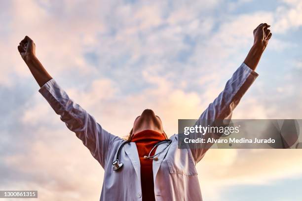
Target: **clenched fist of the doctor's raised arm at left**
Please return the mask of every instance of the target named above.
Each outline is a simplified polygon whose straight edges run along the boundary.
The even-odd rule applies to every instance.
[[[18,51],[22,59],[27,61],[36,56],[36,45],[30,37],[25,36],[25,38],[19,43]]]

